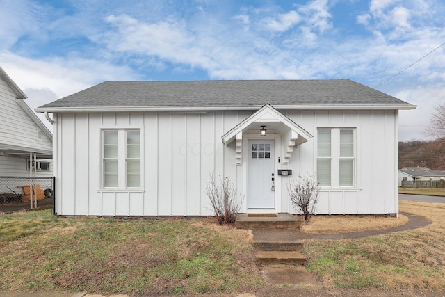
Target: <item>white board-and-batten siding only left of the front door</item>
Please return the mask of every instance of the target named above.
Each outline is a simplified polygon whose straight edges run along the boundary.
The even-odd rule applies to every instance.
[[[242,193],[234,145],[221,136],[250,112],[54,113],[56,212],[94,216],[207,216],[213,173]],[[102,129],[140,129],[141,189],[101,188]],[[233,148],[231,148],[233,147]],[[241,187],[237,184],[241,180]]]

